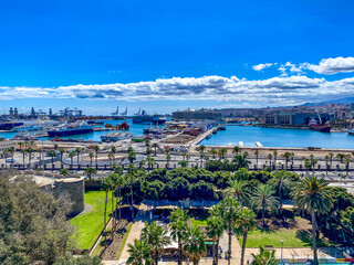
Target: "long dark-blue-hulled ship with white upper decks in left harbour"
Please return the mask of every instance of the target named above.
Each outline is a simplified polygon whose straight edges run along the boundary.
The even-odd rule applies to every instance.
[[[48,131],[49,137],[72,136],[93,132],[93,128],[86,121],[76,121],[75,124],[63,124]]]

